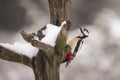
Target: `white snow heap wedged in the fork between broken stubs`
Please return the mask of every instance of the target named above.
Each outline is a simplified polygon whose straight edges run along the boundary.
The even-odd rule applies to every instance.
[[[41,40],[41,42],[54,47],[56,44],[57,36],[60,33],[64,24],[66,24],[66,21],[63,21],[61,26],[47,24],[46,29],[42,31],[42,33],[43,33],[43,35],[45,35],[45,37]]]

